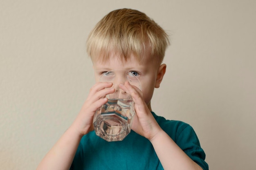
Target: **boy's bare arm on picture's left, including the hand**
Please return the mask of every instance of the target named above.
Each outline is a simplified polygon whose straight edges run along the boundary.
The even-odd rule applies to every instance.
[[[81,138],[93,130],[92,120],[95,111],[108,101],[103,97],[114,92],[114,89],[110,88],[111,86],[112,83],[99,82],[91,88],[88,98],[73,124],[45,155],[36,170],[70,169]]]

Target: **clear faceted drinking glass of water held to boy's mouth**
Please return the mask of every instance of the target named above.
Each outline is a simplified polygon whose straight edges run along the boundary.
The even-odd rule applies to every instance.
[[[119,88],[119,84],[128,81],[141,90],[139,79],[129,71],[112,70],[101,76],[100,82],[112,82],[115,93],[106,97],[108,102],[99,108],[93,119],[96,135],[106,141],[121,141],[131,130],[135,115],[132,97]]]

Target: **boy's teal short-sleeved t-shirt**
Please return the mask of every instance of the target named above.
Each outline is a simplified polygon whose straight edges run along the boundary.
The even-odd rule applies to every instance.
[[[204,170],[205,153],[191,126],[166,120],[153,113],[161,128],[180,148]],[[159,143],[161,145],[161,143]],[[76,151],[70,170],[163,170],[155,150],[148,139],[131,130],[123,141],[108,142],[94,131],[84,135]]]

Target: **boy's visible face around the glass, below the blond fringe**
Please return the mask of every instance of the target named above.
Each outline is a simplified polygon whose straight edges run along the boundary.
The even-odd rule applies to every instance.
[[[130,56],[130,59],[126,62],[122,62],[115,54],[113,54],[109,61],[95,61],[93,66],[96,82],[99,82],[101,74],[107,71],[121,69],[132,72],[137,76],[141,83],[142,93],[146,104],[150,104],[154,88],[158,88],[161,82],[161,80],[157,80],[159,79],[159,76],[157,76],[159,75],[159,64],[152,60],[150,50],[146,50],[142,62],[137,61],[133,55]]]

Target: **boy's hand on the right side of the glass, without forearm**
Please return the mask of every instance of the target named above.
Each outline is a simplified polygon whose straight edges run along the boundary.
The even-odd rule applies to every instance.
[[[153,139],[162,129],[148,109],[142,92],[135,86],[130,85],[129,82],[120,84],[120,88],[129,93],[135,102],[136,114],[133,119],[132,130],[149,140]]]

